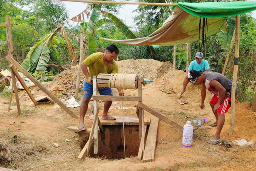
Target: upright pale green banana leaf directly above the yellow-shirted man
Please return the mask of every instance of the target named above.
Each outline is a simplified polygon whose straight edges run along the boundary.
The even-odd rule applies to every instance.
[[[87,24],[85,33],[93,33],[94,32],[95,25],[96,25],[95,23],[98,22],[99,14],[100,14],[100,8],[99,8],[98,5],[96,5],[93,8],[93,11],[91,12],[91,17],[90,17],[90,20]]]

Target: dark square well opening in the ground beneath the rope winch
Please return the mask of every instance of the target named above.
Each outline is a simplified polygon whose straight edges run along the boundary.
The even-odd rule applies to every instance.
[[[94,154],[93,144],[90,147],[89,156],[102,159],[123,159],[137,156],[139,152],[139,126],[125,125],[103,125],[104,133],[98,133],[98,154]],[[125,134],[125,156],[124,156],[124,134]],[[89,139],[89,134],[81,135],[83,142],[81,149]]]

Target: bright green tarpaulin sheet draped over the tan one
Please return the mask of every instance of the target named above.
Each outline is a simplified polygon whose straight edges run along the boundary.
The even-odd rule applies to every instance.
[[[228,2],[228,3],[182,3],[178,6],[189,14],[203,18],[229,17],[256,10],[256,2]]]

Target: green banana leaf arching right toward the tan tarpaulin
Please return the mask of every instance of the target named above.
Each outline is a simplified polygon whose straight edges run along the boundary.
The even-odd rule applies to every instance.
[[[116,25],[116,27],[128,38],[128,39],[136,39],[137,37],[132,33],[132,31],[116,16],[111,13],[107,14],[110,21]]]

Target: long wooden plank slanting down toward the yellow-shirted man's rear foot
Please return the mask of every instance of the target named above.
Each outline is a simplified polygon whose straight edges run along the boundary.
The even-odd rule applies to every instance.
[[[76,116],[67,106],[65,106],[60,100],[54,96],[49,90],[47,90],[37,79],[35,79],[32,75],[30,75],[29,72],[26,71],[17,61],[12,59],[10,55],[5,56],[5,58],[10,61],[17,69],[19,69],[20,72],[22,72],[24,75],[26,75],[37,87],[39,87],[46,95],[49,96],[55,103],[57,103],[61,108],[64,109],[70,116],[73,118],[78,119],[78,116]]]

